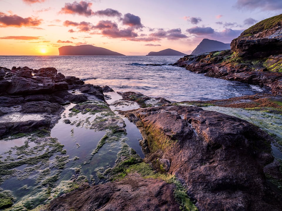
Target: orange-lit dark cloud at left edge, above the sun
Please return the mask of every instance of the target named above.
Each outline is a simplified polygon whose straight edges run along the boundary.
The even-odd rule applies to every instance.
[[[22,27],[22,26],[38,26],[42,19],[32,17],[22,18],[17,15],[7,15],[0,12],[0,27]]]

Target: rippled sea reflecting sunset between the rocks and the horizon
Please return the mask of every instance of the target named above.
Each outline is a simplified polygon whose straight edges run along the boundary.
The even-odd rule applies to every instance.
[[[168,64],[179,56],[0,56],[0,66],[55,67],[85,83],[171,101],[212,100],[263,92],[258,86],[209,78]],[[165,64],[150,66],[148,64]]]

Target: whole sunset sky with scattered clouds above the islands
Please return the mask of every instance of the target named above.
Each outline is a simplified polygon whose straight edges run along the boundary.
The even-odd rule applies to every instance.
[[[0,0],[0,55],[59,55],[64,45],[190,54],[281,13],[282,0]]]

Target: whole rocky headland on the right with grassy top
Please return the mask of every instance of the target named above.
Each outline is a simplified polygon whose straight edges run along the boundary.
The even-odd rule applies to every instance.
[[[282,14],[263,20],[231,42],[231,50],[187,55],[174,65],[205,76],[268,86],[282,93]]]

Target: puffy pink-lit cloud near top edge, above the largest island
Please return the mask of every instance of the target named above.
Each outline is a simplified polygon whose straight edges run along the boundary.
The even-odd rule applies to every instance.
[[[94,12],[91,10],[92,3],[86,1],[80,1],[79,3],[74,1],[73,3],[65,3],[60,13],[64,14],[78,14],[82,16],[92,16]]]

